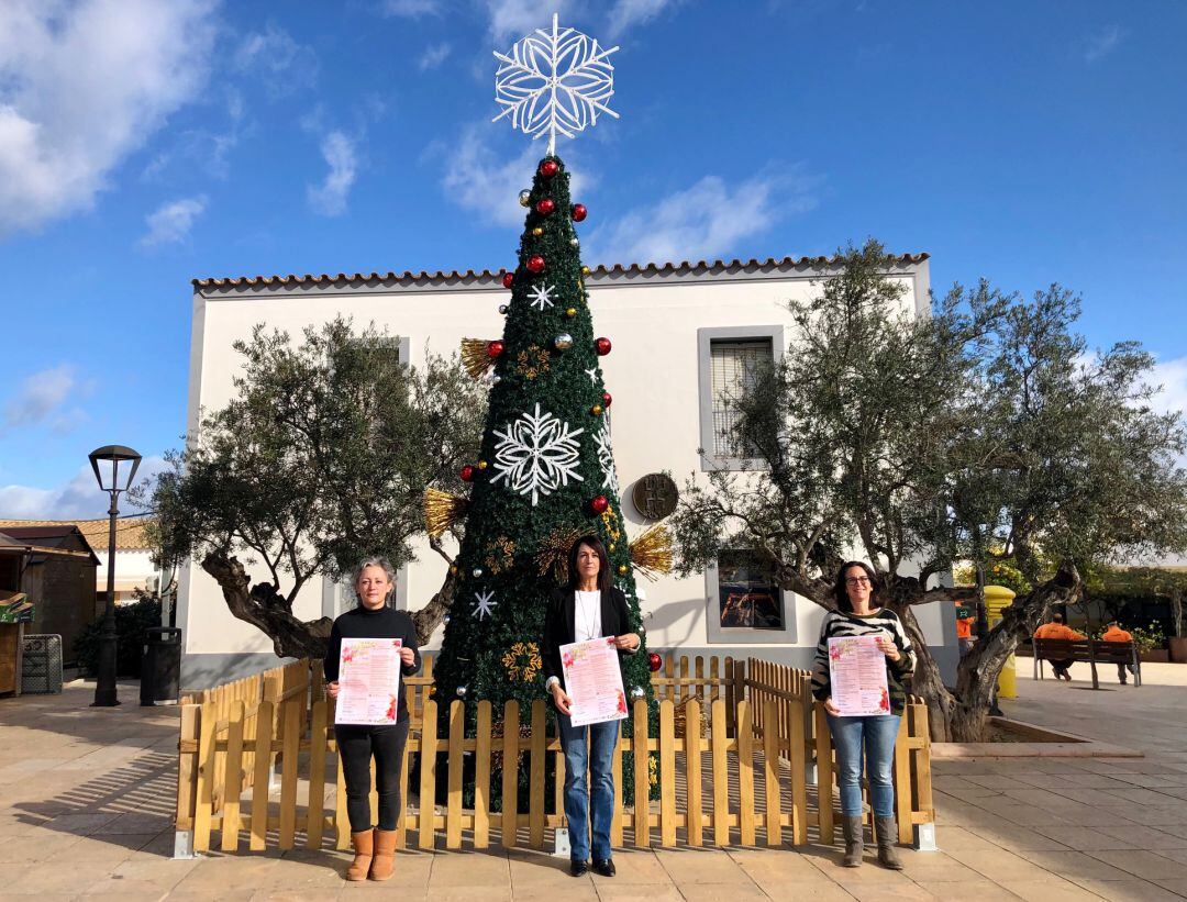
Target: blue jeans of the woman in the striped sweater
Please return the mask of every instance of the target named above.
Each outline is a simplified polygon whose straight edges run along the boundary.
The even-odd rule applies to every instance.
[[[874,817],[894,817],[894,743],[899,738],[899,714],[881,717],[833,717],[829,731],[837,749],[837,785],[840,787],[840,813],[846,818],[862,815],[862,747],[870,781]]]

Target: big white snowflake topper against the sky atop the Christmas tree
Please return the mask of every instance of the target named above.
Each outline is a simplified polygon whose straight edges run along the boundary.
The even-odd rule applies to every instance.
[[[532,135],[548,135],[548,155],[557,134],[572,138],[597,123],[599,113],[618,114],[607,103],[614,96],[614,66],[618,47],[599,47],[597,39],[576,28],[537,28],[514,44],[510,56],[495,51],[502,65],[495,72],[495,102],[503,109],[493,121],[510,116],[512,127]]]

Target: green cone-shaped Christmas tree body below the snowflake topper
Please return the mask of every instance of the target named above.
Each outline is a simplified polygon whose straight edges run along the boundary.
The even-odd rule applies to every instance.
[[[556,174],[538,169],[531,191],[457,555],[457,603],[434,665],[442,717],[458,687],[465,687],[471,724],[480,700],[491,701],[495,711],[515,700],[526,713],[545,695],[539,647],[548,593],[560,583],[541,555],[550,544],[567,552],[575,538],[598,535],[634,627],[640,625],[610,453],[607,386],[570,217],[569,172],[556,157],[541,164],[550,160]],[[542,212],[539,204],[546,199],[552,209]],[[528,267],[533,256],[542,258],[541,272]],[[541,291],[548,300],[540,299]],[[558,341],[561,335],[571,347]],[[605,502],[604,512],[594,508],[595,497]],[[483,599],[489,609],[481,606]],[[627,691],[641,687],[649,697],[646,652],[627,658],[623,669]]]

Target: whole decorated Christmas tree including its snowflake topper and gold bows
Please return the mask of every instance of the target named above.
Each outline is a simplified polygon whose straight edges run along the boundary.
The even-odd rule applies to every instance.
[[[503,335],[463,342],[471,375],[493,381],[481,457],[462,471],[469,497],[427,498],[431,531],[465,519],[455,563],[458,586],[434,678],[440,716],[462,699],[471,726],[481,700],[490,701],[499,718],[509,699],[526,716],[545,698],[545,606],[550,591],[567,583],[575,540],[592,534],[605,545],[640,634],[635,567],[662,570],[671,559],[666,534],[653,529],[631,545],[623,522],[611,449],[614,399],[599,366],[611,341],[594,329],[584,284],[589,269],[576,224],[586,210],[572,202],[570,173],[553,151],[558,132],[571,134],[598,112],[610,112],[610,52],[558,28],[554,19],[551,32],[525,38],[513,56],[496,55],[503,61],[496,87],[504,114],[516,127],[547,135],[550,148],[532,188],[520,195],[527,215],[519,263],[503,277],[509,292],[500,306]],[[631,698],[650,700],[648,665],[646,648],[624,660],[623,686]],[[623,773],[629,775],[629,767]],[[627,783],[629,777],[624,789]]]

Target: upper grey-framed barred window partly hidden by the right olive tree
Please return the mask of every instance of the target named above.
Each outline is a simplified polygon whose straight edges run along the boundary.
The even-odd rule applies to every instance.
[[[697,330],[703,470],[754,470],[763,465],[757,451],[734,432],[737,401],[754,390],[764,367],[779,362],[782,347],[781,325]]]

